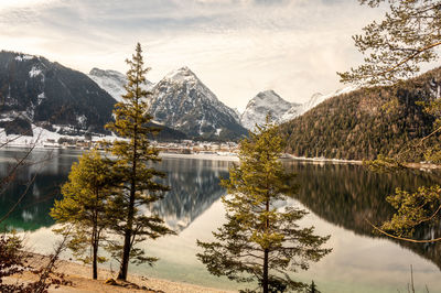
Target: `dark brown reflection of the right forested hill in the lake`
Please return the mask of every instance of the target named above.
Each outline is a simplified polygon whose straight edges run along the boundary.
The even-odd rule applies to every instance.
[[[416,191],[421,185],[437,183],[433,173],[410,171],[378,174],[359,165],[287,163],[298,173],[300,191],[297,199],[322,219],[355,234],[386,238],[432,261],[441,270],[441,243],[411,243],[374,234],[370,223],[380,225],[394,214],[386,196],[400,187]],[[417,173],[417,175],[416,175]],[[441,236],[438,227],[419,227],[415,238]]]

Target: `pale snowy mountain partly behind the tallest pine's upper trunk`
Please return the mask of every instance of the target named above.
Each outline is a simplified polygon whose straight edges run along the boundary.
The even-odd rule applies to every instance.
[[[125,85],[127,84],[126,75],[116,70],[103,70],[99,68],[92,68],[88,74],[100,88],[106,90],[117,101],[121,101],[121,96],[126,94]],[[146,88],[149,89],[153,86],[149,80],[146,82]]]

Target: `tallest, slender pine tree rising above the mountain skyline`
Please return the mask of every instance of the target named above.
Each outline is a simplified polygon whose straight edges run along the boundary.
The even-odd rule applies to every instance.
[[[136,245],[147,238],[155,239],[172,234],[163,220],[155,215],[146,215],[150,204],[162,198],[169,187],[158,183],[164,173],[149,166],[149,163],[161,161],[159,151],[151,146],[149,135],[158,129],[147,126],[152,120],[148,113],[150,93],[144,89],[146,74],[150,69],[144,67],[141,45],[138,43],[132,59],[127,59],[130,69],[127,72],[127,94],[122,101],[115,106],[115,122],[106,126],[125,140],[116,140],[109,148],[117,156],[114,174],[120,178],[120,193],[111,200],[114,210],[111,229],[123,237],[123,243],[114,242],[109,249],[112,256],[120,261],[119,280],[127,279],[130,259],[135,263],[148,262],[152,264],[157,259],[144,257],[143,250]]]

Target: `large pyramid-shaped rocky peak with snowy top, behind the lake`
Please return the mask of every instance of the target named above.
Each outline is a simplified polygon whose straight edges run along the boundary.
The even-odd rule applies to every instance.
[[[187,67],[168,74],[152,88],[152,94],[150,111],[155,121],[189,137],[230,140],[247,134],[237,113]]]

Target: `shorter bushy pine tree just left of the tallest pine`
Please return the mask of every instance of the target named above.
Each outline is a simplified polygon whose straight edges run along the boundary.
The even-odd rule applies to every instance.
[[[68,182],[62,187],[63,199],[55,200],[51,216],[68,235],[67,247],[85,263],[93,264],[93,279],[98,278],[97,263],[105,261],[98,249],[108,227],[106,206],[110,196],[110,165],[97,151],[84,153],[72,165]]]

